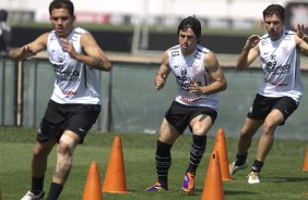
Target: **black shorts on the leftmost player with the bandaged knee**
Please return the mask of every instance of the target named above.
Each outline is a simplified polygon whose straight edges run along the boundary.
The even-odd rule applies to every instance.
[[[38,129],[37,141],[56,138],[59,142],[64,130],[72,130],[80,136],[82,143],[99,113],[99,104],[59,104],[50,100]]]

